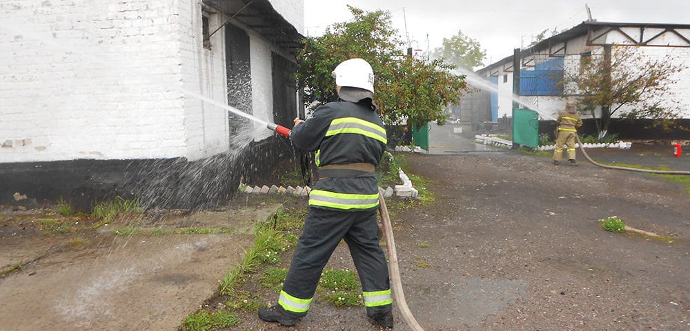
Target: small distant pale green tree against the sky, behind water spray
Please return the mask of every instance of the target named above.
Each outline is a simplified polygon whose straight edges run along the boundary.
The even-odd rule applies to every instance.
[[[444,38],[441,45],[433,50],[433,57],[460,68],[471,70],[482,66],[482,61],[486,59],[486,50],[482,50],[480,43],[467,37],[462,30],[458,30],[451,39]]]

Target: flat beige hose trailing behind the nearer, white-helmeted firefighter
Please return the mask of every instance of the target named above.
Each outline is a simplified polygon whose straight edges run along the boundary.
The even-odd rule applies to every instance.
[[[381,214],[381,222],[384,224],[384,238],[386,239],[386,249],[388,250],[388,273],[393,284],[393,299],[395,305],[402,313],[402,319],[412,328],[413,331],[424,331],[420,323],[413,316],[410,308],[407,307],[405,301],[405,294],[402,292],[402,282],[400,281],[400,269],[397,264],[397,252],[395,252],[395,239],[393,239],[393,226],[391,219],[388,217],[388,209],[386,208],[386,201],[384,200],[384,190],[379,188],[379,212]]]

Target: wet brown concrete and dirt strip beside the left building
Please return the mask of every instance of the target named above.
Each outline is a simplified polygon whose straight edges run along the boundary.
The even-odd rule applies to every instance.
[[[278,206],[238,206],[156,223],[147,217],[136,220],[137,226],[163,229],[224,226],[236,229],[232,234],[132,236],[109,233],[124,225],[118,222],[97,233],[41,233],[37,223],[58,219],[54,212],[6,210],[3,268],[39,259],[0,278],[0,329],[177,330],[253,244],[248,229]]]

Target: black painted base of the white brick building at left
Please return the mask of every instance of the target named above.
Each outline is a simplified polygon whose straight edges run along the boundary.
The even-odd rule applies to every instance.
[[[213,208],[237,192],[241,178],[258,182],[279,162],[299,160],[288,139],[270,137],[238,153],[185,158],[0,163],[0,204],[66,201],[90,211],[100,201],[137,197],[147,208]]]

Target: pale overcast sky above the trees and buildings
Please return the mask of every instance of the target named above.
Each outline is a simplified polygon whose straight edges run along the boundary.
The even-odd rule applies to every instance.
[[[566,30],[586,21],[585,3],[597,21],[690,24],[690,0],[304,0],[304,33],[317,36],[327,26],[351,19],[348,4],[388,10],[403,41],[407,27],[413,48],[433,50],[462,30],[486,50],[484,65],[489,65],[513,54],[513,48],[528,46],[543,30],[550,37],[554,28]]]

